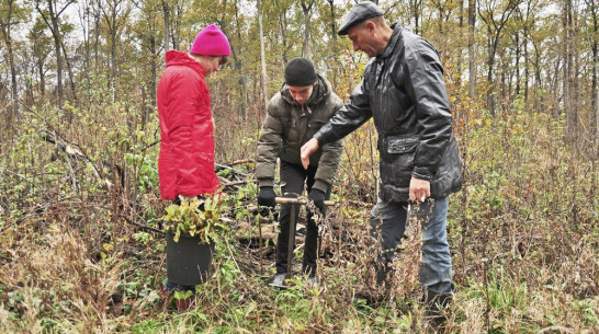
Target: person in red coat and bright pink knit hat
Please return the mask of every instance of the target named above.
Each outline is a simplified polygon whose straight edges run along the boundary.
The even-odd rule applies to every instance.
[[[184,199],[214,193],[214,135],[210,91],[204,78],[221,70],[230,55],[227,37],[214,24],[202,30],[189,54],[170,50],[158,84],[160,197]],[[195,290],[167,279],[165,292]],[[178,308],[187,309],[189,300]]]

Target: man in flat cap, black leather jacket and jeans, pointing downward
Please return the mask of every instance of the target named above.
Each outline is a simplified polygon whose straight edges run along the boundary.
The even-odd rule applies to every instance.
[[[447,240],[448,195],[462,187],[457,143],[437,49],[425,38],[391,27],[383,11],[360,2],[344,16],[339,35],[372,57],[350,102],[302,147],[304,168],[320,146],[343,138],[374,118],[378,131],[381,192],[372,210],[373,231],[382,237],[381,267],[393,261],[408,214],[422,223],[420,281],[429,308],[439,314],[453,291]],[[419,203],[408,212],[409,203]],[[382,283],[382,281],[380,281]],[[434,315],[434,314],[433,314]]]

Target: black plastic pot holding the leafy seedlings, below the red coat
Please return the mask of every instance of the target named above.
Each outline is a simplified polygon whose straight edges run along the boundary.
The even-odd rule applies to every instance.
[[[207,280],[214,243],[202,244],[199,237],[181,235],[174,242],[167,233],[167,275],[181,286],[196,286]]]

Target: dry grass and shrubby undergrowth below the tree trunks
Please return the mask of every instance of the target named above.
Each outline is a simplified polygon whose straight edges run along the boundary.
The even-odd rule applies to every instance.
[[[88,97],[94,103],[86,108],[27,110],[0,142],[0,332],[425,331],[419,222],[410,222],[391,284],[373,284],[369,264],[377,241],[368,233],[368,218],[377,157],[371,123],[346,139],[332,196],[339,205],[321,221],[317,288],[306,288],[300,275],[287,290],[268,286],[272,241],[236,232],[241,222],[257,221],[256,185],[248,177],[226,191],[231,232],[216,249],[212,277],[199,287],[195,308],[178,312],[159,295],[167,203],[159,199],[157,117],[140,104]],[[256,113],[245,118],[213,103],[217,163],[253,159]],[[495,115],[467,99],[454,107],[464,188],[450,200],[456,293],[442,332],[598,332],[592,148],[567,143],[563,119],[518,99]],[[252,174],[251,161],[234,168]],[[219,175],[226,182],[226,170]],[[383,302],[353,302],[362,292]]]

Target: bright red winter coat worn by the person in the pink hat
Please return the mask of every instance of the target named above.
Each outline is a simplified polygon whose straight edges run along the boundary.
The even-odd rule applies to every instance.
[[[214,135],[204,69],[185,53],[167,53],[158,84],[160,197],[214,193]]]

